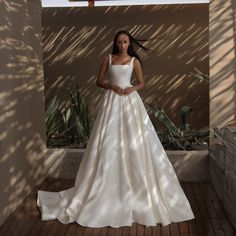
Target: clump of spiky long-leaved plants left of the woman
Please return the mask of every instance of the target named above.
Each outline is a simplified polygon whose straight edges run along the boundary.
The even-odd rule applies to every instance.
[[[59,108],[60,100],[55,96],[46,111],[46,135],[48,146],[85,147],[93,123],[88,105],[76,91],[68,88],[69,104]]]

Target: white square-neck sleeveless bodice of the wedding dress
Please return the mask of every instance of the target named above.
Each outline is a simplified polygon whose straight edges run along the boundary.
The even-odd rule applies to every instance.
[[[127,65],[112,65],[112,56],[109,55],[109,82],[112,85],[117,85],[120,87],[132,86],[130,84],[131,75],[133,71],[133,61],[134,57],[132,57],[131,61]]]

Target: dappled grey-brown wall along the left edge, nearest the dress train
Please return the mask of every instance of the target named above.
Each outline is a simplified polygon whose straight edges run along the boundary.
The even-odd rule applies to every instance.
[[[0,40],[1,225],[43,178],[40,1],[1,1]]]

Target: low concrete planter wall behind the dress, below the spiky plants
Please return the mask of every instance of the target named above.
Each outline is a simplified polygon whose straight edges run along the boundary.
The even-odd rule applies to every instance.
[[[74,179],[85,149],[48,149],[46,177]],[[208,181],[208,150],[166,151],[180,181]]]

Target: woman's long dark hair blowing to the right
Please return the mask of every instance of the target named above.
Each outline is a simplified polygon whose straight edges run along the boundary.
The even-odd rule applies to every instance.
[[[113,42],[113,49],[112,49],[112,54],[117,54],[119,53],[119,48],[117,46],[117,38],[119,35],[121,34],[125,34],[129,37],[129,41],[130,41],[130,45],[128,47],[128,54],[131,56],[131,57],[136,57],[141,65],[142,65],[142,61],[137,53],[137,48],[140,47],[142,48],[144,51],[146,51],[147,53],[150,53],[151,50],[145,46],[143,46],[140,42],[144,42],[144,41],[148,41],[147,39],[137,39],[137,38],[134,38],[127,30],[120,30],[116,33],[115,35],[115,38],[114,38],[114,42]]]

